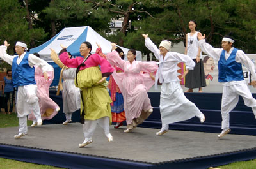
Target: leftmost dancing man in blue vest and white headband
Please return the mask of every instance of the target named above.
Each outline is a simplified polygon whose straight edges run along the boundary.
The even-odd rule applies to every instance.
[[[8,64],[12,65],[13,87],[18,87],[17,93],[17,114],[19,117],[19,134],[14,138],[27,135],[27,115],[33,111],[38,126],[42,125],[38,97],[36,96],[35,68],[39,66],[44,72],[45,80],[48,80],[47,71],[53,71],[52,67],[44,60],[33,54],[27,53],[27,45],[24,41],[17,41],[15,52],[17,55],[10,56],[6,53],[8,44],[4,41],[4,46],[0,46],[0,57]]]

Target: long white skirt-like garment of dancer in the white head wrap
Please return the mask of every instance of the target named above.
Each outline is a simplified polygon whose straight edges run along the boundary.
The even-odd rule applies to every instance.
[[[186,121],[192,117],[202,118],[204,114],[189,101],[179,82],[163,83],[160,97],[160,113],[162,126],[168,129],[170,123]]]

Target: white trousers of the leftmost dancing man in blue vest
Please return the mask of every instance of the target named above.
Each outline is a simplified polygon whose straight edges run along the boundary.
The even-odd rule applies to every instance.
[[[41,119],[38,97],[36,96],[37,86],[34,84],[18,87],[17,92],[17,116],[19,117],[19,133],[28,132],[27,115],[33,110],[36,121]]]

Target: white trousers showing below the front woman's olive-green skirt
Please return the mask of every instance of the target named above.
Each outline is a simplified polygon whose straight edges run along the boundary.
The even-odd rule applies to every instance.
[[[99,124],[99,126],[104,129],[104,133],[106,136],[109,134],[109,117],[102,117],[97,120],[84,120],[84,138],[86,138],[87,140],[92,138],[97,124]]]

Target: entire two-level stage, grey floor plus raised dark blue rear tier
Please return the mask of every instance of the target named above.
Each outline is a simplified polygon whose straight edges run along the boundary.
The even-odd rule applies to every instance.
[[[182,85],[182,89],[187,89]],[[250,86],[253,97],[256,89]],[[203,93],[185,96],[205,114],[203,124],[193,117],[188,121],[169,125],[170,131],[156,136],[161,128],[159,112],[161,86],[148,91],[154,112],[132,133],[124,133],[125,126],[114,129],[114,141],[107,142],[98,126],[93,143],[79,148],[83,142],[83,129],[79,110],[72,114],[72,124],[63,126],[62,96],[50,91],[51,98],[60,106],[60,112],[44,125],[29,126],[28,135],[13,138],[18,128],[0,128],[0,157],[63,168],[209,168],[235,161],[256,158],[256,120],[252,109],[239,98],[237,107],[230,112],[231,132],[219,139],[221,132],[222,85],[207,86]],[[188,110],[189,111],[189,110]],[[49,125],[45,125],[49,124]]]

